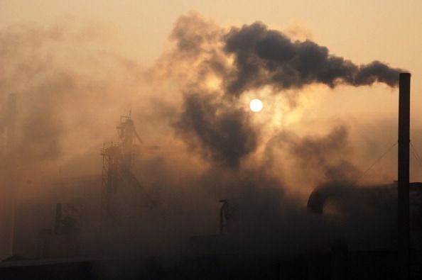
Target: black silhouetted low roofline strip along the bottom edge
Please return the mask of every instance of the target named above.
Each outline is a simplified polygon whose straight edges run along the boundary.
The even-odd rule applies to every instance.
[[[2,264],[0,279],[397,279],[397,252],[349,252],[294,259],[210,254],[177,263],[158,259],[40,260]],[[421,277],[413,267],[413,279]]]

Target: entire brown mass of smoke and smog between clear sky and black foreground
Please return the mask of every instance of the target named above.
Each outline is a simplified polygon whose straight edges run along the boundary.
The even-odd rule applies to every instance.
[[[102,51],[103,36],[71,24],[0,30],[2,259],[131,259],[93,269],[113,279],[139,275],[134,259],[394,250],[396,185],[359,181],[379,157],[354,157],[364,128],[298,133],[259,124],[242,102],[261,91],[295,112],[312,86],[397,91],[406,70],[198,13],[178,18],[148,67]]]

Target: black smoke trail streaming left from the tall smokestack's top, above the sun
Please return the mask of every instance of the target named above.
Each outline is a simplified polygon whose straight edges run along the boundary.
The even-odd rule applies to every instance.
[[[278,90],[300,89],[313,83],[331,88],[338,84],[363,86],[374,82],[397,86],[399,72],[403,71],[379,61],[355,65],[310,40],[292,42],[263,23],[232,28],[224,40],[226,52],[234,55],[235,66],[225,81],[226,91],[236,96],[266,85]]]

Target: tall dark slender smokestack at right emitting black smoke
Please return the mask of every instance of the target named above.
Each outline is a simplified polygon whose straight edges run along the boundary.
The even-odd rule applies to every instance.
[[[409,142],[410,77],[400,73],[399,81],[399,279],[409,279]]]

